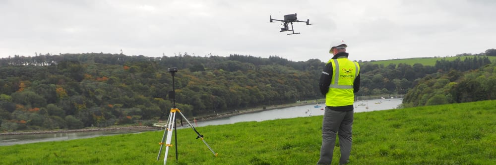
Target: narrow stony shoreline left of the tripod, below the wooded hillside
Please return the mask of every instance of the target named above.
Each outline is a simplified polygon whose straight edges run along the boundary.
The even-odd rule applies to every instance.
[[[90,132],[90,131],[106,131],[106,130],[159,130],[152,126],[114,126],[102,128],[83,128],[83,129],[63,129],[63,130],[43,130],[43,131],[20,131],[20,132],[0,132],[0,135],[28,135],[28,134],[46,134],[46,133],[69,133],[69,132]]]

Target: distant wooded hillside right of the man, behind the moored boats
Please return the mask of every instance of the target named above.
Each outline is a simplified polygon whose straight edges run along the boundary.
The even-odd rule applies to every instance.
[[[390,63],[387,66],[373,64],[371,62],[361,63],[361,89],[359,96],[369,95],[405,95],[409,89],[421,83],[422,78],[427,75],[439,73],[446,74],[450,70],[464,72],[477,69],[492,61],[487,56],[474,55],[461,60],[437,60],[434,66],[415,63],[412,65],[404,63]]]

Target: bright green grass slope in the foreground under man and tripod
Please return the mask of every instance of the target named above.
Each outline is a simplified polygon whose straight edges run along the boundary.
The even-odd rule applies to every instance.
[[[355,113],[349,165],[491,165],[496,101]],[[322,116],[178,130],[168,165],[314,165]],[[0,147],[2,165],[162,165],[163,131]],[[339,147],[333,165],[337,165]]]

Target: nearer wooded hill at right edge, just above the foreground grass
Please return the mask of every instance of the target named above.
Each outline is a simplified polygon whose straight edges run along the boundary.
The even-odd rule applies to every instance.
[[[450,70],[422,78],[405,96],[405,107],[496,99],[496,64],[462,72]]]

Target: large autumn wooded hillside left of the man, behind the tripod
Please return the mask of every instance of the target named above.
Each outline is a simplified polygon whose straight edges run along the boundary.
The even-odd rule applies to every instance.
[[[41,56],[41,57],[40,57]],[[14,56],[0,59],[2,130],[77,129],[165,119],[320,98],[318,59],[271,56],[145,57],[111,54]],[[320,70],[320,71],[317,71]]]

